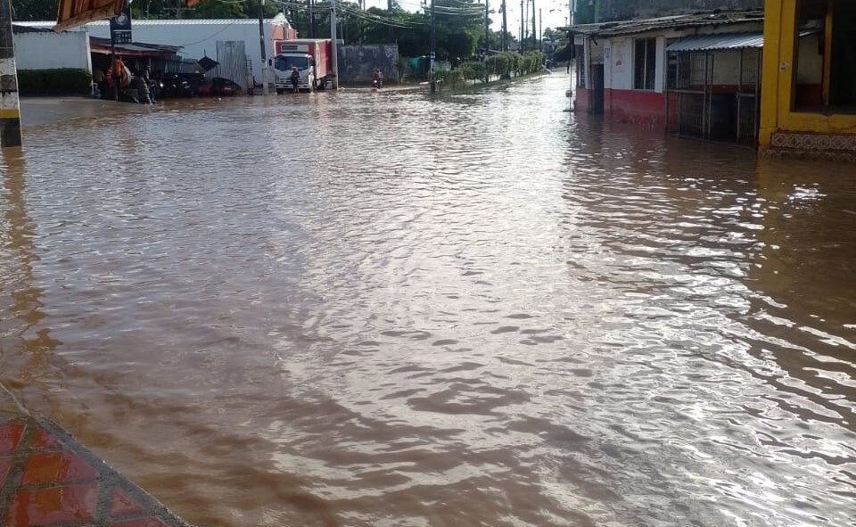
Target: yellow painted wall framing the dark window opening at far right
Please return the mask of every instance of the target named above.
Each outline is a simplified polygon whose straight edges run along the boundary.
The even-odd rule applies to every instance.
[[[792,111],[796,0],[764,3],[761,126],[758,144],[770,146],[774,132],[856,134],[856,115]]]

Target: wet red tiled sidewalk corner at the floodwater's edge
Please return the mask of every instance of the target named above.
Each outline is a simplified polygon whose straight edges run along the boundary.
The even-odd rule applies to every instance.
[[[8,408],[0,408],[0,525],[189,527],[56,424]]]

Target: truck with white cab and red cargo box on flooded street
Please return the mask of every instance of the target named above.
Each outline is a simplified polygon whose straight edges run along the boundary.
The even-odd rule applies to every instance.
[[[300,90],[323,90],[333,82],[333,41],[329,38],[294,38],[274,41],[276,93],[292,91],[292,66],[300,72]]]

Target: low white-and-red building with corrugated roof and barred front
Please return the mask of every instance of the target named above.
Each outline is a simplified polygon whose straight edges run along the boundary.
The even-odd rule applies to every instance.
[[[763,13],[751,10],[571,26],[574,110],[754,144],[762,22]]]

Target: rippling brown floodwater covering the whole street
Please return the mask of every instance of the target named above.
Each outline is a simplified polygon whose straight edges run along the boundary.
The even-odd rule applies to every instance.
[[[567,84],[31,123],[0,381],[199,525],[856,525],[856,169]]]

